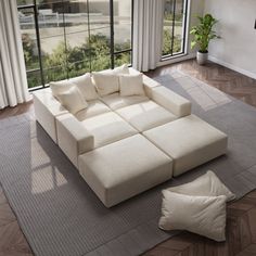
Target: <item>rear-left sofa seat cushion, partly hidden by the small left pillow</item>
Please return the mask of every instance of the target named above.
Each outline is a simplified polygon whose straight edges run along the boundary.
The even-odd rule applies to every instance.
[[[111,112],[111,108],[106,104],[104,104],[103,102],[101,102],[99,100],[88,101],[87,103],[88,103],[87,108],[79,111],[75,115],[76,118],[80,121],[85,120],[86,118],[90,118],[92,116],[95,116],[95,115]]]

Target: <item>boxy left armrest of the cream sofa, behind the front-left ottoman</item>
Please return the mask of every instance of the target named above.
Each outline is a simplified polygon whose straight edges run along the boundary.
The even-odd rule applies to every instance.
[[[78,167],[78,156],[93,150],[94,138],[72,114],[56,117],[57,144]]]

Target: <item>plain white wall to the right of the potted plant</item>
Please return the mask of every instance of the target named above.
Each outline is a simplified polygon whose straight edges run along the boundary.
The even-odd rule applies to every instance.
[[[256,0],[205,0],[204,13],[219,24],[221,39],[209,46],[209,59],[256,78]]]

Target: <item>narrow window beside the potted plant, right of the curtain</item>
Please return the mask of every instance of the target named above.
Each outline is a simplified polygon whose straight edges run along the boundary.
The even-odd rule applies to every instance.
[[[188,0],[165,0],[162,57],[184,53]]]

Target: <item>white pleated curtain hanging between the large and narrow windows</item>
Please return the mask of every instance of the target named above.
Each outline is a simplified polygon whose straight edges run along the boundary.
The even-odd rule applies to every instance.
[[[161,60],[164,0],[135,0],[132,66],[146,72]]]

